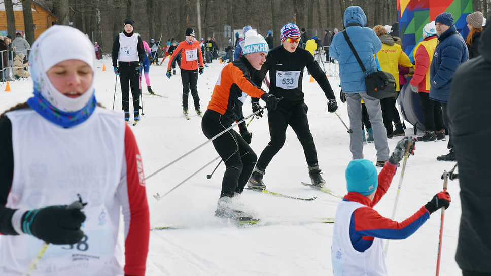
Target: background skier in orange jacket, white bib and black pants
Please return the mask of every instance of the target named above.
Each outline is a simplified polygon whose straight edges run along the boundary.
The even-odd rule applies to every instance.
[[[194,39],[194,29],[186,29],[186,39],[179,43],[178,48],[174,50],[167,66],[167,78],[170,79],[172,62],[178,54],[181,54],[181,80],[183,81],[183,114],[188,114],[188,94],[191,89],[193,95],[194,109],[198,115],[201,115],[199,106],[199,96],[196,84],[198,82],[198,73],[203,74],[203,56],[199,42]],[[198,64],[199,59],[199,64]],[[199,65],[199,67],[198,67]]]

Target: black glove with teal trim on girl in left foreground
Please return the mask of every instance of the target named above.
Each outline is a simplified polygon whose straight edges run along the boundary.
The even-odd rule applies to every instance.
[[[22,231],[55,245],[78,243],[84,237],[80,227],[85,214],[81,207],[73,208],[72,205],[48,206],[25,212],[21,220]]]

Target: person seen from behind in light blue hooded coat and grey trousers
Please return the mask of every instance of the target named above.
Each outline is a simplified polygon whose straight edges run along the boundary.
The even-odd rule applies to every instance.
[[[345,31],[367,72],[362,71],[342,32],[334,35],[329,48],[329,56],[339,62],[341,89],[346,96],[349,127],[353,130],[353,133],[349,135],[349,150],[352,157],[353,159],[363,158],[363,131],[361,127],[361,100],[363,99],[372,123],[375,149],[377,150],[376,165],[383,167],[389,158],[387,131],[385,131],[382,123],[380,100],[367,95],[365,86],[367,74],[377,71],[373,55],[382,49],[382,42],[372,29],[364,27],[366,23],[367,17],[359,6],[350,6],[344,11]]]

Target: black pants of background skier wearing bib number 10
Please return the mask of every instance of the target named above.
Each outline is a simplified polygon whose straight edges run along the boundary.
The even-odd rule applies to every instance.
[[[123,110],[129,111],[129,88],[131,85],[131,95],[133,96],[133,110],[142,109],[140,107],[140,71],[138,62],[119,62],[119,81],[121,83],[121,98]]]

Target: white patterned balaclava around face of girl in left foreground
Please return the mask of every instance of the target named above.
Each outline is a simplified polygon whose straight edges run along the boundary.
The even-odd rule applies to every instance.
[[[60,41],[63,41],[62,47],[60,47]],[[63,95],[53,86],[46,75],[46,72],[53,65],[68,59],[84,61],[94,73],[89,89],[77,98]],[[85,34],[76,28],[55,25],[43,32],[32,44],[29,53],[29,67],[34,89],[61,111],[75,112],[81,110],[95,92],[94,47]]]

